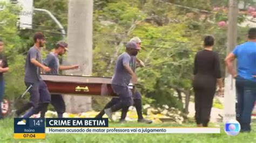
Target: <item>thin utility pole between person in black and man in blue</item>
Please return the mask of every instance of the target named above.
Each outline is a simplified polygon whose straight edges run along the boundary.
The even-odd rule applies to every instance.
[[[227,54],[233,51],[237,46],[237,0],[229,1],[228,9],[228,31],[227,31]],[[224,123],[228,120],[235,119],[235,80],[227,72],[225,77],[225,94],[224,94]]]

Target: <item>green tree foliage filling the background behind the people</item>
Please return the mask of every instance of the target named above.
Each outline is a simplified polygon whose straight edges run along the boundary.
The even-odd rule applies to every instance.
[[[146,67],[137,68],[137,75],[143,85],[140,91],[144,96],[144,102],[184,109],[180,95],[184,93],[189,101],[189,96],[192,94],[194,55],[203,49],[203,38],[206,34],[214,35],[216,39],[214,50],[219,52],[221,60],[224,60],[227,27],[218,26],[218,22],[227,20],[227,11],[224,8],[213,11],[213,8],[225,5],[225,2],[95,0],[93,75],[111,77],[118,55],[124,52],[124,44],[132,37],[139,37],[143,41],[143,49],[138,54],[138,58],[145,62]],[[66,30],[68,1],[40,0],[35,1],[34,5],[35,8],[51,11]],[[46,34],[48,51],[52,49],[52,44],[62,39],[62,35],[59,34],[57,25],[44,13],[35,12],[33,30],[19,31],[16,26],[17,15],[11,9],[0,12],[1,22],[8,22],[0,26],[0,34],[6,41],[6,53],[10,55],[11,61],[11,72],[6,75],[8,78],[6,93],[17,96],[21,94],[20,88],[24,87],[24,58],[26,51],[32,45],[32,33],[43,31]],[[243,22],[245,19],[239,20]],[[245,40],[246,30],[247,28],[239,27],[238,34],[244,35],[239,37],[239,42]],[[11,58],[11,55],[15,58]],[[223,62],[221,64],[224,75],[224,64]]]

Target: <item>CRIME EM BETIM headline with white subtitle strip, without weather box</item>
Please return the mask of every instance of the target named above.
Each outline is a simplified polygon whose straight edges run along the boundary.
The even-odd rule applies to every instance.
[[[107,118],[46,118],[46,133],[220,133],[219,127],[109,127]]]

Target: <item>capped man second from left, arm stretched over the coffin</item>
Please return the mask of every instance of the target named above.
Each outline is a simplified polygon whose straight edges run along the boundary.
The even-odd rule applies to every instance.
[[[43,61],[45,66],[51,68],[50,72],[46,72],[46,74],[58,75],[59,70],[68,70],[68,69],[77,69],[78,65],[73,66],[60,66],[59,65],[59,55],[62,56],[65,52],[68,51],[68,44],[64,41],[58,41],[53,52],[49,53]],[[65,112],[65,102],[62,95],[54,94],[51,95],[51,104],[55,108],[58,113],[58,117],[62,118],[63,113]],[[45,117],[45,112],[47,110],[41,111],[41,118]]]

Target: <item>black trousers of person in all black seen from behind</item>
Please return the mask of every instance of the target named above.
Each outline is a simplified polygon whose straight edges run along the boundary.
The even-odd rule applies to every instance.
[[[216,90],[216,78],[199,75],[195,77],[193,83],[195,119],[197,124],[208,126],[210,121],[213,97]]]

